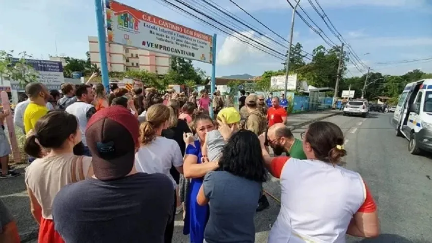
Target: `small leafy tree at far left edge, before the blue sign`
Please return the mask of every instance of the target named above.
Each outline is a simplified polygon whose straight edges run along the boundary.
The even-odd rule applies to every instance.
[[[25,87],[28,83],[36,82],[39,73],[26,61],[32,56],[28,55],[27,52],[19,52],[17,60],[14,60],[13,53],[14,51],[0,50],[0,75],[17,81],[22,87]]]

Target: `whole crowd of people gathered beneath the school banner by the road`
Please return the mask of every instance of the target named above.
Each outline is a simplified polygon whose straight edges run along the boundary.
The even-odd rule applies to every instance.
[[[15,109],[39,243],[171,243],[181,212],[190,243],[253,243],[254,216],[269,207],[269,173],[281,185],[269,243],[379,234],[366,183],[341,166],[345,139],[334,123],[313,122],[298,139],[278,97],[269,106],[241,91],[233,107],[219,91],[211,99],[205,90],[110,89],[64,84],[60,95],[30,83]],[[3,129],[0,136],[1,178],[18,176]],[[0,223],[0,242],[18,243],[1,200]]]

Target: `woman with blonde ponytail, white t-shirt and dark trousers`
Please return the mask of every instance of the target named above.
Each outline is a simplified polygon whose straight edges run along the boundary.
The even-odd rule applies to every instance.
[[[173,182],[173,213],[175,213],[176,181],[170,173],[172,166],[183,174],[183,156],[177,142],[173,139],[162,137],[162,130],[170,127],[170,109],[164,104],[154,104],[146,113],[146,121],[139,127],[139,140],[141,143],[135,154],[135,165],[138,172],[162,173]],[[165,230],[165,243],[171,243],[174,230],[174,217]]]

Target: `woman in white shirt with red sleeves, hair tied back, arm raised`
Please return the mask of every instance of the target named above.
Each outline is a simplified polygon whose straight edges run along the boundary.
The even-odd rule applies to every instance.
[[[276,132],[277,133],[277,132]],[[377,205],[363,177],[341,167],[346,156],[341,128],[316,121],[301,133],[307,159],[270,157],[259,136],[269,172],[280,179],[281,207],[268,243],[345,243],[346,234],[377,237]]]

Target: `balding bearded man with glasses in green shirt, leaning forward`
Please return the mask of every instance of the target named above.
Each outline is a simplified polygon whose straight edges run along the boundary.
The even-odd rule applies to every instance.
[[[297,159],[306,159],[306,155],[303,152],[302,141],[294,138],[291,130],[282,123],[276,123],[269,127],[267,140],[269,141],[270,147],[273,149],[273,154],[276,156],[280,156],[285,152],[287,156]]]

